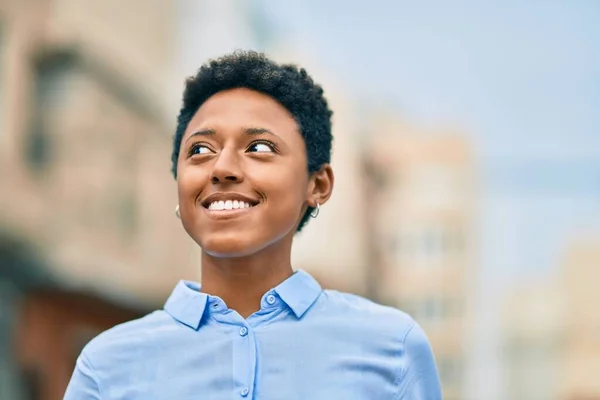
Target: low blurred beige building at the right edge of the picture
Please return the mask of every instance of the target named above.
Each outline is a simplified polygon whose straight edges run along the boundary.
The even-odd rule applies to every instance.
[[[555,279],[516,291],[505,307],[511,399],[600,399],[600,239],[573,242]]]

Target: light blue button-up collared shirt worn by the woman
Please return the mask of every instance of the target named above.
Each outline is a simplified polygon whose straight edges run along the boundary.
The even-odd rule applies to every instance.
[[[407,314],[322,290],[306,272],[247,319],[181,281],[164,310],[83,349],[65,399],[439,400],[423,330]]]

